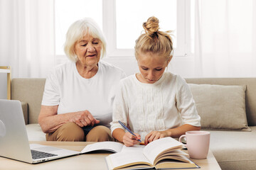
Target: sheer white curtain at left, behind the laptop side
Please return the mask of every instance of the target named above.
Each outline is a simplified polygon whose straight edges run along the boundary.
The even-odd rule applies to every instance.
[[[0,0],[0,65],[12,78],[46,77],[54,66],[53,0]]]

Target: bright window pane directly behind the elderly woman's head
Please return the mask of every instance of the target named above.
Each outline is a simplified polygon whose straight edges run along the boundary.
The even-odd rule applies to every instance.
[[[102,28],[102,0],[55,0],[56,55],[64,55],[65,34],[70,25],[85,17],[93,18]]]

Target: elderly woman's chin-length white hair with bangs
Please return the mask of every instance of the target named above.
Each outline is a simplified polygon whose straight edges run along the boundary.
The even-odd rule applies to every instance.
[[[82,40],[82,38],[89,33],[93,38],[98,38],[102,42],[102,50],[100,52],[101,58],[106,55],[107,42],[100,27],[91,18],[83,18],[75,21],[66,34],[66,40],[64,44],[64,52],[68,58],[74,62],[77,62],[77,56],[75,55],[75,43]]]

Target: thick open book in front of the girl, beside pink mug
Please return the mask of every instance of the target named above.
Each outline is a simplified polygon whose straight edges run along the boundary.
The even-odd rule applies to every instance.
[[[130,152],[117,152],[106,157],[108,169],[182,169],[200,168],[181,151],[183,144],[171,137],[150,142],[146,147],[127,147]]]

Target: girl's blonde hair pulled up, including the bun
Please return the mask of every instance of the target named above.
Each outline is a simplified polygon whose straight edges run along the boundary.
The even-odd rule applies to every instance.
[[[159,53],[166,57],[166,60],[171,60],[173,51],[172,38],[169,35],[171,31],[159,30],[159,19],[151,16],[146,22],[143,23],[145,33],[140,35],[135,44],[135,56],[138,53],[152,52]]]

